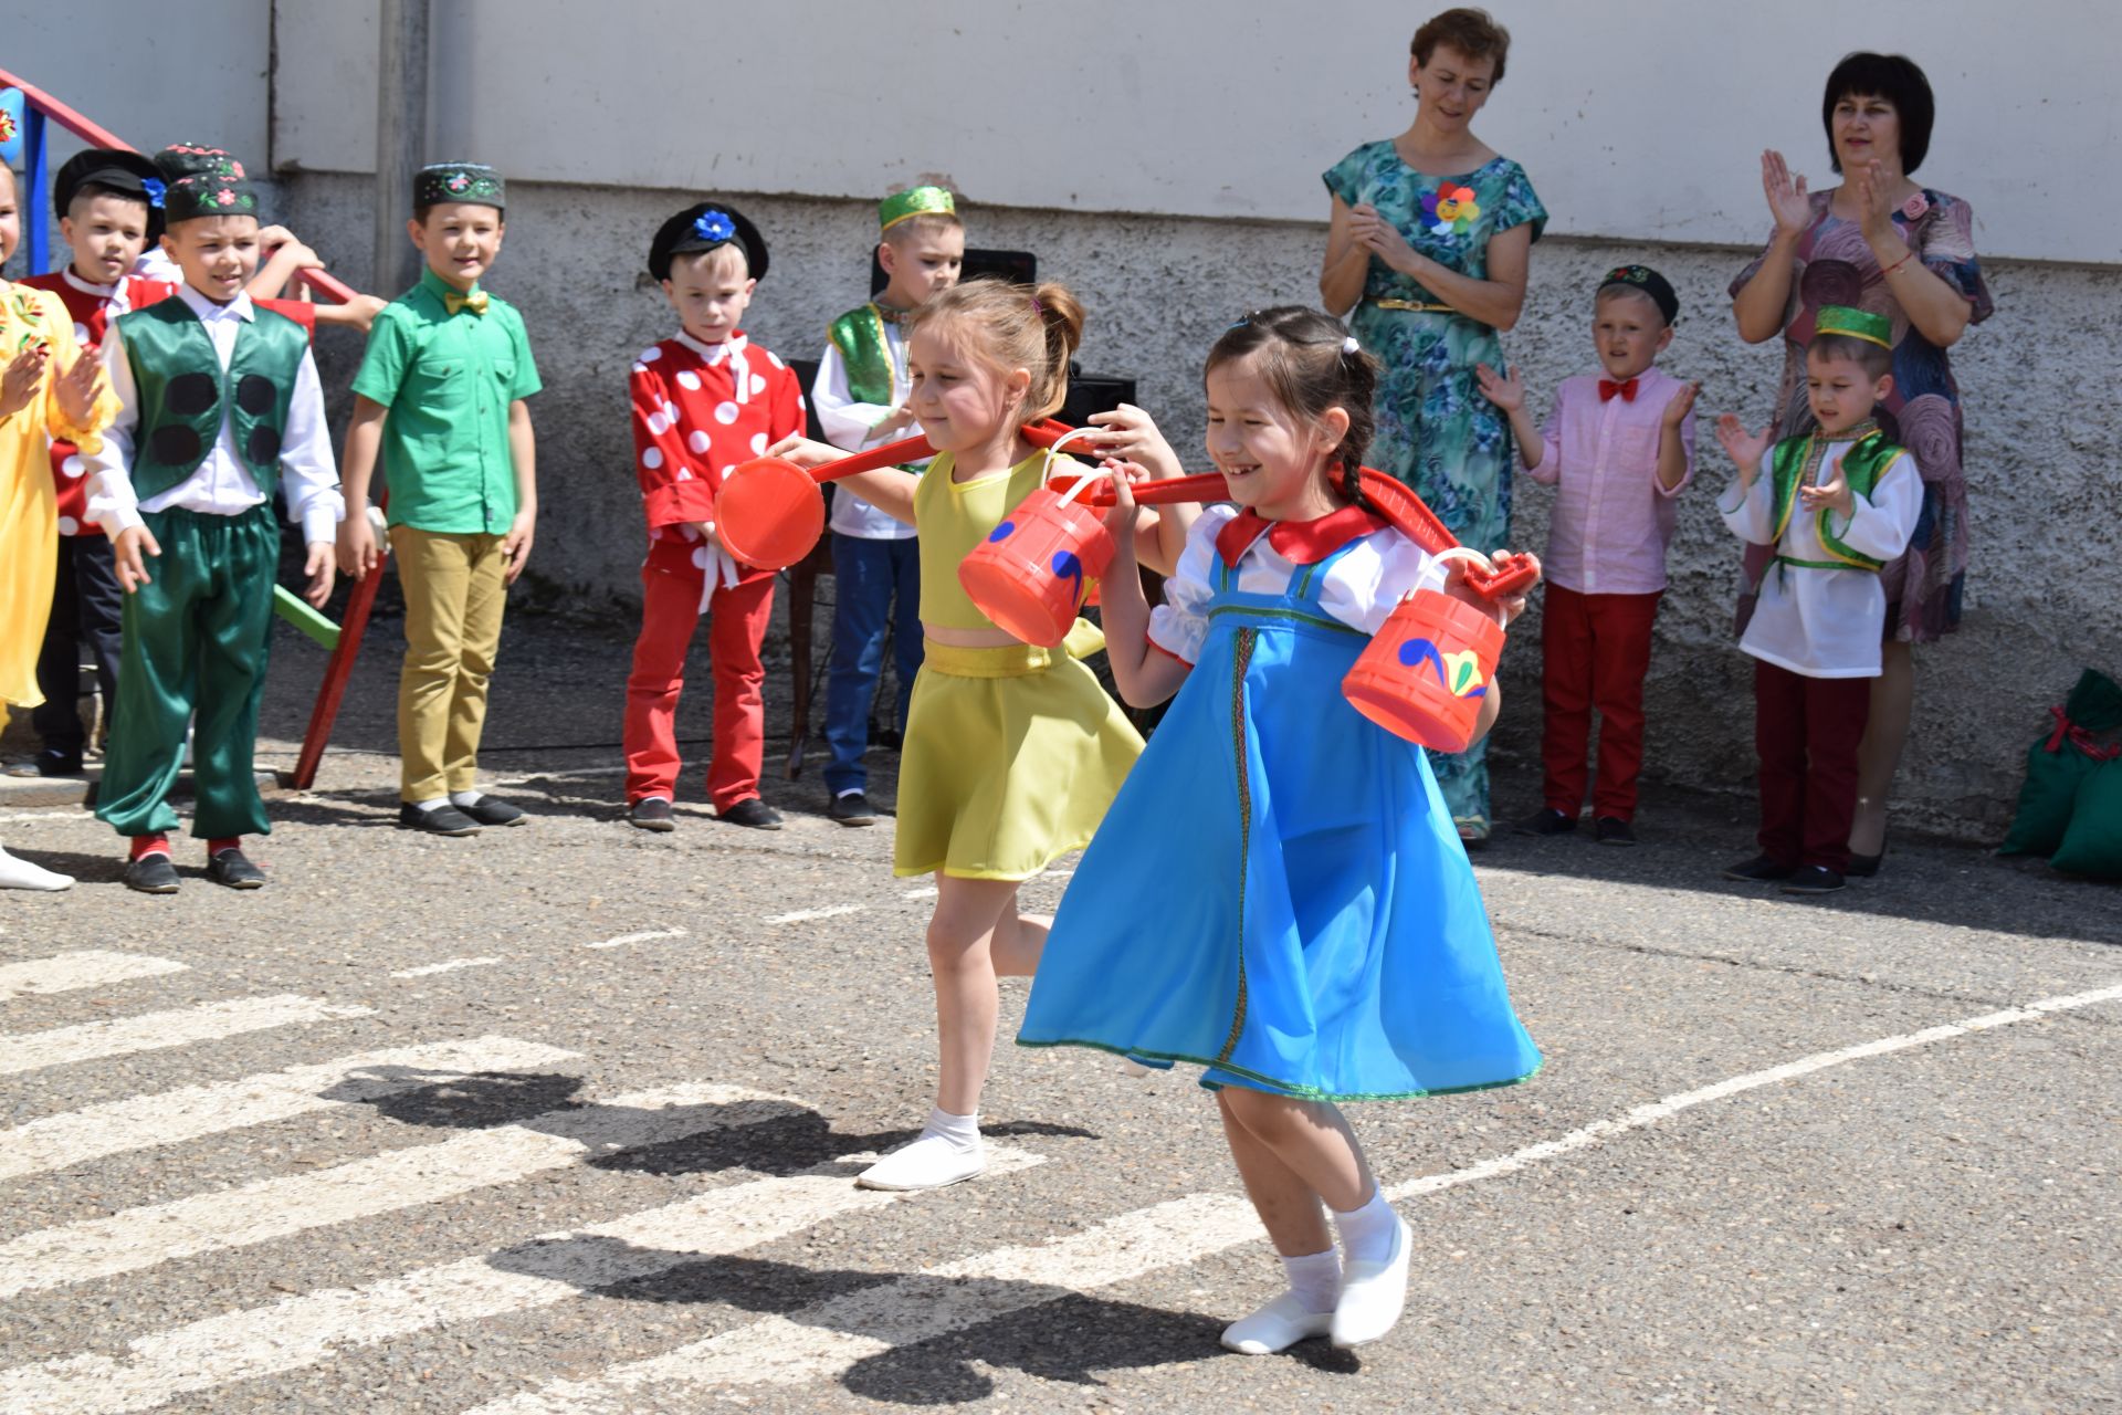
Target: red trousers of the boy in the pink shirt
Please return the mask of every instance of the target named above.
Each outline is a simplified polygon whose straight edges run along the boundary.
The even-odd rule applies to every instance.
[[[1541,764],[1547,804],[1570,819],[1585,804],[1592,709],[1598,709],[1598,779],[1592,815],[1636,819],[1642,772],[1642,679],[1651,672],[1651,594],[1579,594],[1547,586],[1541,611]]]

